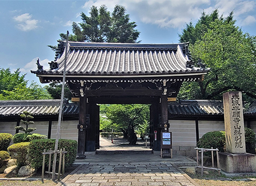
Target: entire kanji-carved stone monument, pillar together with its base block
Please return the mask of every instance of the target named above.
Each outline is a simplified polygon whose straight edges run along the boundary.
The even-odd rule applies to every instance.
[[[223,108],[227,152],[219,153],[219,168],[228,173],[256,172],[256,156],[246,153],[242,93],[224,93]]]

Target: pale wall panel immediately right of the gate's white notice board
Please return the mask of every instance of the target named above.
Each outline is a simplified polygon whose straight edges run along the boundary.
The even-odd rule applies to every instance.
[[[197,137],[195,134],[195,121],[193,120],[169,120],[172,132],[173,146],[192,146],[197,145]]]

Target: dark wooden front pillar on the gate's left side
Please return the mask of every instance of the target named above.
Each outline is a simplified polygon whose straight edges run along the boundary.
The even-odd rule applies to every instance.
[[[86,100],[87,97],[80,97],[79,102],[79,124],[78,124],[78,159],[83,159],[85,151],[85,135],[86,135]]]

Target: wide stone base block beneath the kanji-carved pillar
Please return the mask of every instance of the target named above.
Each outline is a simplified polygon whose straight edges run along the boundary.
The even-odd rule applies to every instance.
[[[256,155],[251,153],[219,152],[220,169],[227,173],[256,172]]]

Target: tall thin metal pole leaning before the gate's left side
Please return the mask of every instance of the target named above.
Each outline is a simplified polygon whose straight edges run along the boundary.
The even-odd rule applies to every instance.
[[[57,134],[56,134],[56,142],[55,142],[53,165],[52,165],[52,180],[55,180],[55,178],[56,178],[55,169],[56,169],[56,161],[57,161],[58,139],[59,139],[59,131],[61,130],[61,120],[62,120],[62,110],[63,110],[63,100],[64,100],[64,88],[65,88],[65,81],[66,81],[68,34],[69,34],[69,32],[67,30],[66,53],[65,53],[64,71],[63,71],[63,80],[62,80],[62,95],[61,95],[61,105],[59,105],[59,113],[58,113]]]

